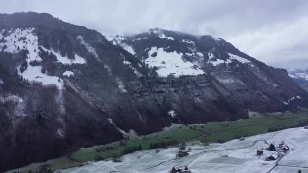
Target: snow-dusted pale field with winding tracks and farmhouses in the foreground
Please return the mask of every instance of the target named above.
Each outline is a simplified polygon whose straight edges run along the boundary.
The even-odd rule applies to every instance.
[[[190,146],[189,156],[175,159],[178,148],[138,151],[124,155],[123,162],[98,161],[83,167],[69,168],[62,172],[169,172],[172,166],[188,165],[193,172],[308,172],[308,129],[285,129],[224,144]],[[273,153],[268,144],[279,145],[284,140],[290,150],[276,161],[265,161]],[[262,150],[262,156],[256,150]],[[274,152],[278,154],[278,152]]]

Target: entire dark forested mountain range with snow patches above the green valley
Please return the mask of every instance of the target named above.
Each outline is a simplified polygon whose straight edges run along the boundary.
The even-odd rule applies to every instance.
[[[130,129],[143,135],[171,123],[247,118],[260,106],[307,106],[286,70],[221,38],[157,28],[107,38],[49,14],[0,14],[0,170]]]

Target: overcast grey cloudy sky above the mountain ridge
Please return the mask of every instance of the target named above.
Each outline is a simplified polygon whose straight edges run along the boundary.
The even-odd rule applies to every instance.
[[[222,37],[274,67],[308,68],[305,0],[0,0],[0,13],[46,12],[96,29],[137,33],[160,27]]]

